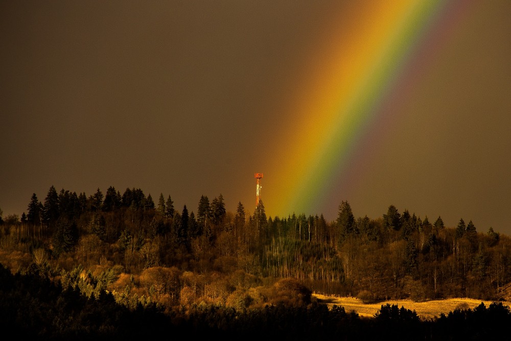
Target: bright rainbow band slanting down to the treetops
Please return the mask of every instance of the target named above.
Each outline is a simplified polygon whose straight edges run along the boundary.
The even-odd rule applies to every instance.
[[[357,186],[364,160],[471,1],[350,2],[283,117],[286,133],[265,169],[270,216],[320,214]],[[426,53],[427,52],[427,53]],[[335,217],[330,217],[334,218]]]

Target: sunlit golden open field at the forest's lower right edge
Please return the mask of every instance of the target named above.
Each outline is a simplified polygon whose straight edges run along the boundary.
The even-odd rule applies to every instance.
[[[494,301],[481,301],[474,299],[448,299],[448,300],[434,300],[434,301],[426,301],[426,302],[413,302],[410,300],[391,300],[384,301],[378,303],[364,304],[361,300],[353,298],[353,297],[336,297],[336,296],[327,296],[320,294],[313,294],[320,302],[326,303],[328,306],[342,306],[346,310],[346,312],[355,311],[360,316],[374,316],[378,309],[381,308],[382,305],[386,305],[387,303],[391,305],[397,305],[399,308],[402,306],[409,310],[415,310],[417,315],[421,317],[421,319],[431,319],[432,317],[440,316],[440,313],[448,314],[450,311],[455,310],[457,307],[461,307],[461,309],[474,309],[478,305],[484,303],[487,307],[490,306]],[[511,306],[510,302],[502,302],[505,306]]]

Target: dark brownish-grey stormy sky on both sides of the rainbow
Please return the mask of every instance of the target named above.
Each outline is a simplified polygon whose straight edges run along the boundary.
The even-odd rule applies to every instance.
[[[141,188],[155,201],[160,193],[171,195],[177,209],[187,204],[189,211],[197,210],[201,195],[211,200],[222,194],[227,210],[234,212],[241,201],[250,211],[253,173],[270,176],[274,164],[269,159],[278,145],[268,142],[280,141],[295,119],[281,115],[284,103],[313,60],[308,56],[331,43],[322,37],[342,28],[338,18],[354,11],[349,3],[0,3],[4,216],[27,212],[32,193],[42,201],[52,185],[87,195],[109,186],[121,194]],[[304,213],[335,219],[343,199],[352,202],[356,216],[377,217],[389,204],[401,211],[416,205],[427,212],[415,213],[430,220],[442,214],[455,225],[462,216],[474,220],[478,231],[493,226],[511,234],[511,2],[487,3],[459,45],[443,50],[451,55],[438,64],[438,73],[424,76],[431,80],[424,84],[451,82],[450,91],[421,88],[406,107],[415,113],[413,122],[405,117],[396,123],[372,161],[392,164],[408,153],[429,164],[423,170],[407,163],[399,170],[378,168],[388,174],[367,180],[360,193],[388,191],[382,181],[395,176],[417,187],[403,184],[392,195],[370,199],[339,197],[333,209]],[[460,95],[468,83],[487,89],[470,94],[484,101],[484,110]],[[438,102],[456,114],[435,131],[443,120],[442,112],[431,112]],[[416,133],[417,122],[428,129]],[[438,155],[443,160],[435,161],[424,144],[407,143],[428,132],[447,149]],[[387,152],[392,148],[403,154]],[[463,181],[446,186],[456,178]],[[436,195],[426,189],[432,183]],[[270,204],[271,189],[263,188]],[[426,197],[419,202],[421,190]]]

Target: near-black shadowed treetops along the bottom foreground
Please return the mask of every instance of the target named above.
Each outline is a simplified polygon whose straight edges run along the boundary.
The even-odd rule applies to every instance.
[[[382,305],[374,317],[347,313],[343,307],[313,303],[284,304],[238,311],[194,306],[164,313],[156,305],[134,309],[115,303],[102,291],[87,298],[78,289],[63,290],[37,274],[12,275],[0,265],[0,325],[20,338],[119,339],[183,333],[223,339],[376,339],[395,335],[407,340],[474,340],[500,335],[511,323],[509,306],[481,303],[431,320],[397,305]]]

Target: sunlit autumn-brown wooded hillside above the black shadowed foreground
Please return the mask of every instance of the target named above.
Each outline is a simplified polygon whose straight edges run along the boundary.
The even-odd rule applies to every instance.
[[[308,310],[321,305],[312,292],[364,302],[509,300],[508,236],[479,233],[463,219],[450,228],[393,205],[371,219],[354,217],[342,201],[329,222],[317,214],[267,217],[262,200],[253,212],[241,202],[229,212],[221,194],[202,195],[193,211],[162,193],[155,203],[137,188],[87,196],[51,186],[43,201],[32,195],[27,214],[0,217],[0,264],[11,274],[86,302],[108,297],[127,311]]]

